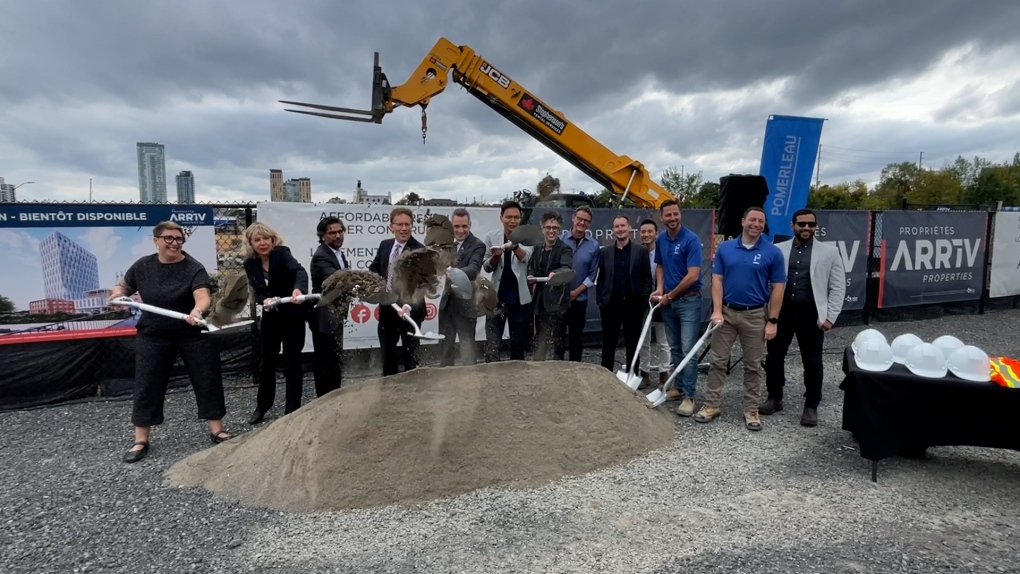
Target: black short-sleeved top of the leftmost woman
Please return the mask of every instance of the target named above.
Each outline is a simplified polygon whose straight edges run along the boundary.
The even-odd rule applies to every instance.
[[[129,267],[120,284],[124,295],[138,293],[147,305],[187,315],[195,309],[195,291],[211,289],[212,282],[205,267],[188,254],[176,263],[160,263],[159,255],[153,254],[142,257]],[[187,332],[197,334],[201,328],[181,319],[144,311],[136,326],[139,334],[151,336]]]

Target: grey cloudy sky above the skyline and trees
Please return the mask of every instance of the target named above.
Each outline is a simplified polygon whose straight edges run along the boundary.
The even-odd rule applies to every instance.
[[[486,6],[486,7],[481,7]],[[265,201],[268,171],[314,201],[407,192],[499,200],[546,173],[597,186],[451,86],[381,124],[284,112],[364,108],[372,53],[403,84],[440,37],[467,45],[658,179],[757,173],[769,114],[827,119],[822,182],[1020,151],[1020,2],[347,0],[7,2],[0,177],[18,199],[138,200],[137,142],[166,146],[199,201]]]

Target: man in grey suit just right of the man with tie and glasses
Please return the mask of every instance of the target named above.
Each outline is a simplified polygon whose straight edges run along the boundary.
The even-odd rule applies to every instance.
[[[454,249],[460,256],[454,267],[464,271],[467,278],[474,280],[481,271],[486,258],[486,244],[471,233],[471,215],[463,207],[457,208],[451,217],[453,223]],[[460,336],[460,357],[465,365],[474,364],[474,331],[478,324],[478,312],[470,300],[458,299],[450,293],[447,279],[443,297],[440,299],[440,334],[446,338],[440,342],[440,366],[452,366],[455,361],[454,340]]]

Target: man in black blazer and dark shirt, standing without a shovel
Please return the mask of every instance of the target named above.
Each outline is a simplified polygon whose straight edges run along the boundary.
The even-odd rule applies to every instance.
[[[642,323],[648,313],[648,298],[652,295],[652,265],[648,250],[630,241],[630,219],[617,215],[613,219],[615,242],[602,248],[599,261],[597,301],[602,314],[602,366],[616,366],[616,344],[623,328],[626,367],[638,352]]]

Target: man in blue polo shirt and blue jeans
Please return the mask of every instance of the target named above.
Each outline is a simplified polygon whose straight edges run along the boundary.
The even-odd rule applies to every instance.
[[[680,206],[675,200],[663,202],[659,217],[666,228],[655,240],[656,290],[652,301],[662,304],[672,364],[679,365],[698,343],[701,328],[702,245],[697,233],[680,224]],[[666,393],[666,400],[682,399],[676,414],[690,417],[698,395],[698,362],[687,363],[674,380],[677,384]]]

